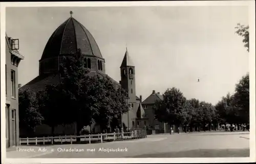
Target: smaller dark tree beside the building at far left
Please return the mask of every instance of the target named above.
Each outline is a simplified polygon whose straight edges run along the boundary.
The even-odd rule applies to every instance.
[[[19,126],[32,134],[37,125],[44,120],[38,110],[38,101],[35,92],[30,89],[19,90]]]

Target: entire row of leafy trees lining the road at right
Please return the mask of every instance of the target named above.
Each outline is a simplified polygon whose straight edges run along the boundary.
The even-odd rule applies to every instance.
[[[179,89],[170,88],[163,93],[163,101],[158,101],[154,109],[156,118],[171,126],[185,125],[200,130],[206,125],[248,124],[249,74],[236,85],[234,95],[228,93],[216,105],[197,99],[186,100]]]

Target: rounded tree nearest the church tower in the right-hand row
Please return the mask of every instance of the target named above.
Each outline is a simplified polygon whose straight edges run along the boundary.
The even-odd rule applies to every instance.
[[[169,125],[183,124],[186,122],[185,103],[186,98],[179,89],[167,89],[163,94],[163,101],[157,102],[154,107],[156,118]]]

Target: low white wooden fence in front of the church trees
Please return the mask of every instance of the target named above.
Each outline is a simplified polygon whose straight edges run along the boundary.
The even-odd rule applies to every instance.
[[[117,140],[117,139],[135,139],[135,138],[145,138],[146,130],[133,130],[130,132],[120,132],[120,133],[100,133],[100,134],[87,134],[87,135],[65,135],[65,136],[48,136],[48,137],[34,137],[34,138],[19,138],[19,145],[38,145],[42,143],[56,144],[56,143],[70,143],[76,142],[77,138],[80,138],[80,141],[91,141],[100,140],[101,143],[103,140]]]

